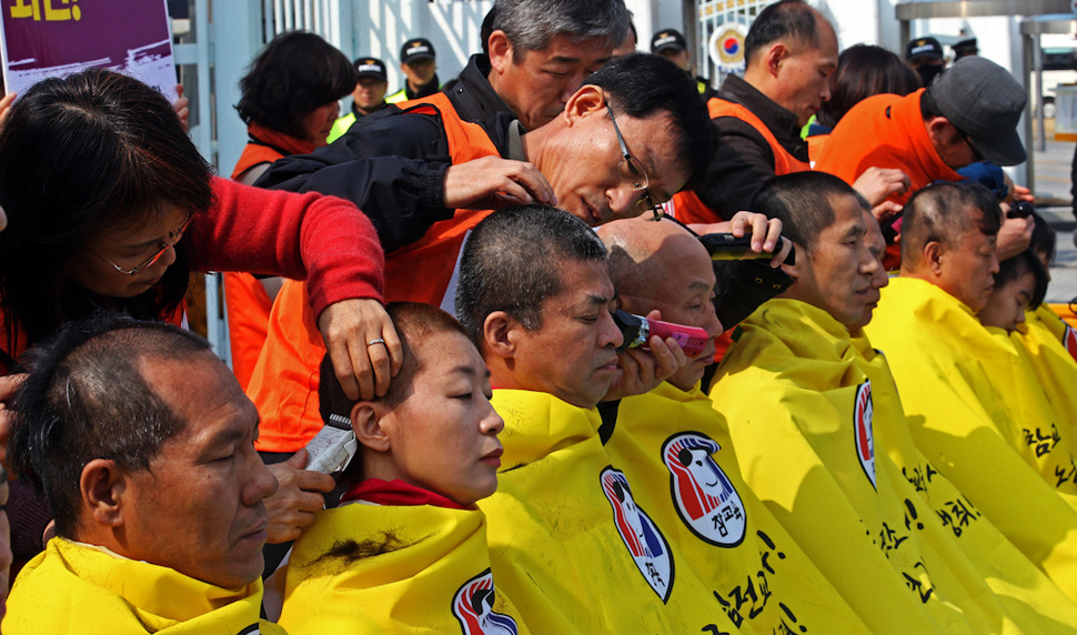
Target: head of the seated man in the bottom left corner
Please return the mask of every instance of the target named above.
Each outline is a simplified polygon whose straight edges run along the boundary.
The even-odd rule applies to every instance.
[[[254,405],[207,341],[103,319],[67,327],[31,367],[8,455],[60,538],[224,588],[259,579],[276,480]]]

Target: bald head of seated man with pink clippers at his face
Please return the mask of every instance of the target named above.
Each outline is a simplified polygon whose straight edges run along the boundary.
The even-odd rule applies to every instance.
[[[622,309],[638,315],[657,310],[662,320],[698,326],[711,336],[699,355],[666,380],[692,390],[714,363],[714,339],[723,331],[714,310],[714,268],[706,248],[671,221],[616,221],[602,225],[598,235],[610,249],[610,276]]]

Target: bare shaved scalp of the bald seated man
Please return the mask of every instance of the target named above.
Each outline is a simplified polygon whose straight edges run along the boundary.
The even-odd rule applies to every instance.
[[[597,232],[610,250],[610,279],[623,296],[655,298],[676,275],[678,261],[695,254],[711,260],[698,239],[672,221],[636,218],[606,223]]]

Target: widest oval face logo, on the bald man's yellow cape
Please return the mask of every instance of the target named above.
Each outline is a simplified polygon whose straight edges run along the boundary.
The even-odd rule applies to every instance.
[[[673,506],[684,524],[712,545],[732,547],[744,540],[747,512],[712,457],[721,448],[698,432],[674,434],[662,445],[662,462],[670,471]]]

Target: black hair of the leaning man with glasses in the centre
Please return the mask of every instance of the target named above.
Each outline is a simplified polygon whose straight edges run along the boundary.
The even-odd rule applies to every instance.
[[[601,88],[617,114],[645,119],[666,113],[690,182],[706,172],[716,132],[695,80],[676,64],[660,56],[630,53],[612,60],[583,83]]]

